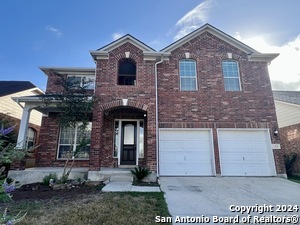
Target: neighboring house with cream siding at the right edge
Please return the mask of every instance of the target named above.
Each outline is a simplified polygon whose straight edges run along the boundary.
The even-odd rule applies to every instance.
[[[300,91],[273,91],[282,148],[297,153],[294,172],[300,174]]]

